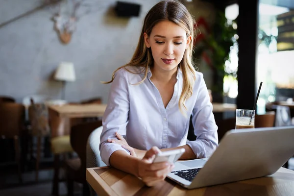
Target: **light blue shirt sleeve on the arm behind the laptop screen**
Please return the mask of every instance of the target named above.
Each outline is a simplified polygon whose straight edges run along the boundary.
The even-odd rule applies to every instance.
[[[199,80],[198,96],[192,111],[194,134],[197,138],[195,141],[188,141],[187,145],[192,148],[197,158],[206,158],[210,157],[218,147],[218,126],[212,113],[212,103],[202,73]]]

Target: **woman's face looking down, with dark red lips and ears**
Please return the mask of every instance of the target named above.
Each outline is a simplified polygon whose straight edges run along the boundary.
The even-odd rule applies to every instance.
[[[192,37],[187,37],[182,27],[170,21],[162,21],[153,27],[150,36],[144,33],[144,39],[147,48],[151,48],[154,68],[171,71],[183,59]]]

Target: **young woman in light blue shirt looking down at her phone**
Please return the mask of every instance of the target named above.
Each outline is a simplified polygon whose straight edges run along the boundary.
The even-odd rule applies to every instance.
[[[148,186],[164,180],[173,167],[152,163],[159,148],[185,148],[181,158],[195,159],[218,146],[209,93],[192,63],[193,38],[194,20],[183,4],[157,3],[145,17],[131,61],[109,82],[101,158]],[[196,141],[187,141],[191,115]]]

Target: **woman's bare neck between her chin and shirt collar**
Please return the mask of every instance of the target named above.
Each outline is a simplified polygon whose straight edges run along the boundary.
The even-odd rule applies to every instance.
[[[152,76],[150,79],[156,80],[157,82],[167,83],[171,80],[176,79],[177,67],[171,71],[165,71],[161,69],[156,69],[154,66],[150,68]]]

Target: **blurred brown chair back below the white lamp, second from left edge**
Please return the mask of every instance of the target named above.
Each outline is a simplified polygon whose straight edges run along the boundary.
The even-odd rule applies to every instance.
[[[33,103],[28,107],[28,116],[31,124],[31,134],[34,136],[48,136],[49,114],[45,103]]]

